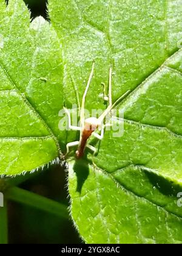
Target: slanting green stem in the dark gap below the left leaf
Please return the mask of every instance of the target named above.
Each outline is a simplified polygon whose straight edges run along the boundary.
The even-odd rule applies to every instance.
[[[29,205],[61,218],[69,218],[67,206],[22,188],[12,187],[6,191],[7,199]]]

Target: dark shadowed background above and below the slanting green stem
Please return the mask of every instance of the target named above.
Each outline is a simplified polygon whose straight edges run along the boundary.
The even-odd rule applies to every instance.
[[[19,187],[68,205],[65,171],[60,166],[24,178],[27,181]],[[9,243],[81,242],[72,221],[25,204],[8,202],[8,222]]]

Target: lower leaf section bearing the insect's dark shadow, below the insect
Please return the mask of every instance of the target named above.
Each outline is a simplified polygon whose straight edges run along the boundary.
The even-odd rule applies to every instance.
[[[181,187],[172,185],[141,167],[109,174],[71,162],[72,215],[87,243],[181,243]]]

